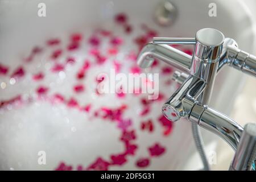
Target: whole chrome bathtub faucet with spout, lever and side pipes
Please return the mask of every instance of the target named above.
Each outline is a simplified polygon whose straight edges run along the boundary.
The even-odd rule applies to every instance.
[[[193,55],[187,55],[168,44],[194,44]],[[192,126],[201,126],[217,134],[237,151],[230,170],[251,169],[251,164],[254,164],[256,159],[255,124],[248,125],[243,131],[233,119],[207,105],[215,77],[221,68],[230,65],[256,77],[256,57],[241,51],[236,41],[225,38],[222,32],[213,28],[203,28],[197,31],[195,38],[154,38],[151,43],[144,46],[137,63],[142,68],[148,68],[154,58],[182,71],[174,73],[174,80],[181,86],[163,105],[164,116],[172,122],[185,117],[192,122]],[[199,143],[197,148],[200,149],[201,142],[197,132],[194,131],[194,137],[197,136],[195,141]],[[246,139],[242,140],[242,134],[250,137],[243,137]],[[250,147],[244,149],[245,146]],[[205,158],[204,155],[201,149],[202,159]],[[206,162],[203,160],[203,163]]]

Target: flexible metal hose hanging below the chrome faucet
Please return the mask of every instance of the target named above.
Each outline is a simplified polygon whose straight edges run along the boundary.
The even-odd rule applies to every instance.
[[[202,140],[201,132],[197,123],[192,123],[192,134],[195,140],[197,151],[199,152],[200,158],[204,166],[203,170],[209,171],[210,167],[207,160],[207,156],[205,155],[205,151],[204,151],[204,142]]]

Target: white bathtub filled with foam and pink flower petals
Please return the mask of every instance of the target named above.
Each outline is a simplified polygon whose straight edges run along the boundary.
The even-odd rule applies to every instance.
[[[163,103],[178,84],[174,68],[156,60],[136,64],[153,36],[193,37],[212,27],[255,49],[255,24],[242,1],[171,1],[170,26],[154,18],[160,1],[1,1],[0,169],[183,170],[200,169],[191,123],[169,123]],[[38,11],[46,5],[46,16]],[[208,16],[216,3],[217,16]],[[192,47],[177,47],[191,53]],[[99,94],[98,74],[159,73],[158,100],[147,94]],[[218,74],[210,106],[229,114],[243,84],[241,73]],[[239,83],[239,84],[238,84]],[[207,151],[217,137],[203,131]]]

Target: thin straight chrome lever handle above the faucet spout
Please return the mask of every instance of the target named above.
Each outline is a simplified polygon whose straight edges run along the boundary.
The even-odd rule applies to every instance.
[[[195,38],[153,38],[153,44],[196,44]]]

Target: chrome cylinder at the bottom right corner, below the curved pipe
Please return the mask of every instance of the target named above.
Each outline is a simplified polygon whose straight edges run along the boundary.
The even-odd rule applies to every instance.
[[[245,129],[243,130],[242,137],[230,169],[234,171],[250,170],[255,158],[256,124],[248,123],[245,125]]]

